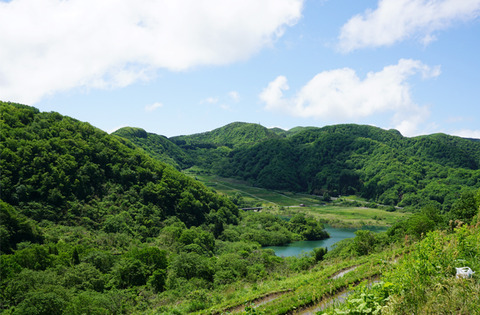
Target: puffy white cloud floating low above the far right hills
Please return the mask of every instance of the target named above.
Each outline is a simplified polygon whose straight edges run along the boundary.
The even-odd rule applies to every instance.
[[[358,121],[378,113],[392,112],[392,123],[405,135],[415,133],[429,115],[425,107],[412,101],[407,79],[421,73],[423,78],[440,74],[439,67],[420,61],[401,59],[379,72],[370,72],[362,80],[350,68],[317,74],[293,97],[285,97],[287,78],[279,76],[262,91],[260,99],[267,110],[292,116]]]

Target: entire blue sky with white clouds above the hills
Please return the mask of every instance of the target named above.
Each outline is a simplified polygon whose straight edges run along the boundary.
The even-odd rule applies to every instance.
[[[0,0],[0,100],[107,132],[480,138],[480,0]]]

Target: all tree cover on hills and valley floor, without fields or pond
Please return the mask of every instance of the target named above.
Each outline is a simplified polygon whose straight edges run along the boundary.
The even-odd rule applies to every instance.
[[[479,222],[480,143],[468,139],[244,123],[168,139],[129,127],[109,135],[20,104],[1,102],[0,115],[6,314],[221,312],[222,303],[244,302],[242,290],[258,295],[265,281],[308,275],[324,260],[347,261]],[[262,246],[328,237],[318,219],[294,210],[239,211],[235,196],[175,169],[192,165],[268,188],[357,194],[420,210],[386,233],[357,231],[331,251],[280,258]],[[227,302],[225,292],[236,288],[240,302]]]

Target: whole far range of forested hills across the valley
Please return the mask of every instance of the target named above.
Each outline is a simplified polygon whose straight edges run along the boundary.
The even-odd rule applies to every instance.
[[[354,124],[285,131],[237,122],[202,134],[148,137],[170,140],[175,149],[128,136],[147,152],[163,150],[174,165],[181,165],[181,150],[205,171],[269,189],[356,194],[416,209],[433,203],[449,211],[463,191],[480,187],[480,142],[445,134],[407,138]]]

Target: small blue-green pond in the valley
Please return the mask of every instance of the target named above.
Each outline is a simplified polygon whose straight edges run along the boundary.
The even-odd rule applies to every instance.
[[[357,230],[369,230],[373,232],[385,232],[387,227],[384,226],[364,226],[361,229],[355,228],[333,228],[330,226],[325,227],[325,230],[330,234],[330,238],[321,241],[298,241],[293,242],[285,246],[267,246],[264,248],[273,249],[275,255],[280,257],[297,256],[302,252],[309,252],[316,247],[327,247],[328,250],[332,249],[332,245],[346,238],[355,237],[355,231]]]

